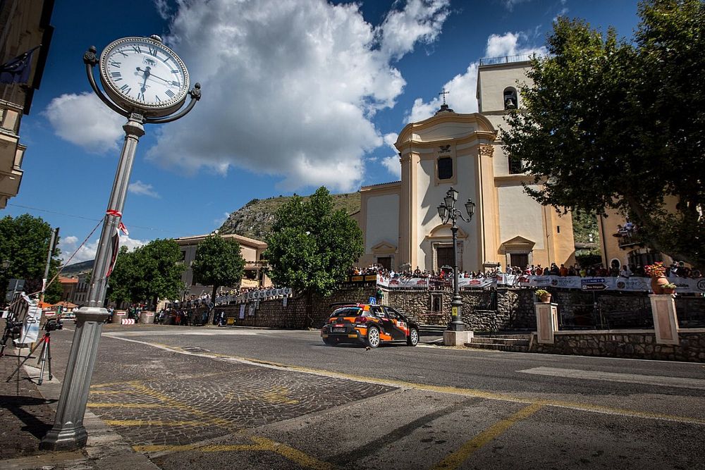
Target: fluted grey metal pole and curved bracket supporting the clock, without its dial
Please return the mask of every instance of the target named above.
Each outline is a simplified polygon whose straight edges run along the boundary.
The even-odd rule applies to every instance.
[[[200,99],[200,85],[196,84],[190,91],[188,106],[172,116],[147,118],[136,106],[133,109],[122,109],[102,94],[93,78],[92,68],[97,63],[96,49],[91,47],[83,57],[86,64],[88,81],[98,97],[113,111],[128,118],[123,125],[125,142],[120,154],[120,161],[115,173],[108,208],[106,210],[103,228],[100,234],[98,250],[93,263],[91,283],[88,290],[87,306],[81,307],[76,313],[73,343],[66,366],[66,375],[61,385],[61,396],[56,407],[54,426],[42,438],[39,448],[47,450],[74,450],[85,447],[88,433],[83,426],[90,381],[98,352],[98,344],[103,329],[103,323],[108,318],[108,311],[103,307],[110,271],[118,256],[118,227],[121,223],[125,197],[130,183],[137,142],[145,135],[145,123],[166,123],[176,120],[188,113],[195,101]],[[182,103],[183,106],[183,103]]]

